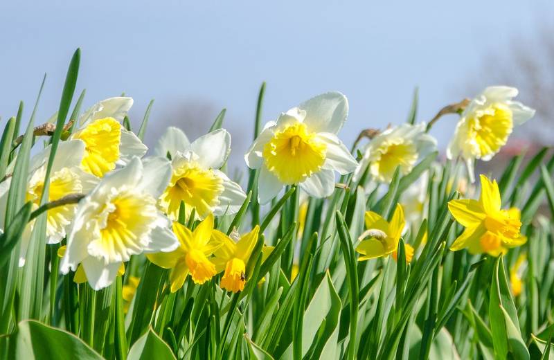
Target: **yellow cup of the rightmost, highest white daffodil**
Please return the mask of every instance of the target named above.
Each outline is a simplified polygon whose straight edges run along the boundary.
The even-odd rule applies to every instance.
[[[498,152],[506,145],[512,129],[512,111],[502,104],[491,105],[469,119],[469,138],[474,141],[474,150],[479,156]]]

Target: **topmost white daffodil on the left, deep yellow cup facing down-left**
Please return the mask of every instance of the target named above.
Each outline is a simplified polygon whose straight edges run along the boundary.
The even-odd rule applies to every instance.
[[[86,145],[81,164],[84,171],[102,177],[116,165],[125,165],[133,156],[142,157],[146,153],[148,147],[121,125],[132,105],[132,98],[109,98],[81,116],[71,138]]]

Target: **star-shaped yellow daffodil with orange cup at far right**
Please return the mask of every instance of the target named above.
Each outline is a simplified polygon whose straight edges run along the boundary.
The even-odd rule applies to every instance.
[[[527,238],[519,233],[519,209],[502,210],[497,181],[490,181],[484,175],[481,175],[479,200],[451,200],[448,209],[454,219],[465,226],[465,231],[450,246],[452,251],[467,248],[470,253],[498,256],[506,253],[508,248],[527,241]]]

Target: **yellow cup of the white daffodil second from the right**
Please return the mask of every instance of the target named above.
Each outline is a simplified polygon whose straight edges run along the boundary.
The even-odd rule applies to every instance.
[[[394,141],[383,143],[374,152],[370,172],[379,181],[391,181],[396,168],[400,165],[402,174],[410,172],[418,161],[418,152],[411,142]]]

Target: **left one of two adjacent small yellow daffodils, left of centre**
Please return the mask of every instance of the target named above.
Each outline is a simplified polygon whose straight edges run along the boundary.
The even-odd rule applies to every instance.
[[[213,215],[208,215],[194,231],[190,231],[178,222],[173,223],[173,231],[179,240],[179,246],[170,253],[150,253],[148,260],[164,269],[171,269],[169,280],[171,292],[175,292],[185,282],[190,273],[196,284],[204,284],[217,271],[209,258],[222,244],[213,237]]]

